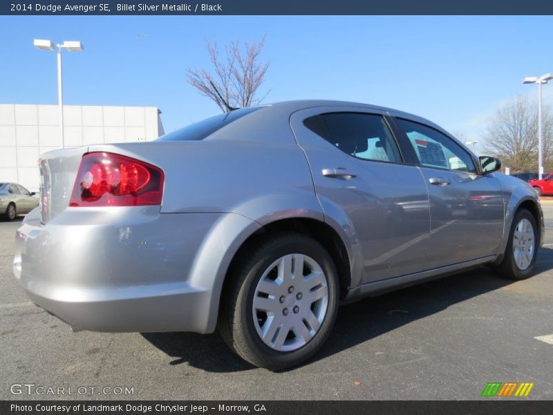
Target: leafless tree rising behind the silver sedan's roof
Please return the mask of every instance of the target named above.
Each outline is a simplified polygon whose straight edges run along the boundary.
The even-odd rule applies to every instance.
[[[187,68],[186,80],[223,112],[259,104],[267,96],[257,95],[269,68],[269,62],[261,60],[264,46],[265,37],[252,43],[233,41],[225,46],[225,56],[221,57],[216,42],[208,42],[212,71]]]

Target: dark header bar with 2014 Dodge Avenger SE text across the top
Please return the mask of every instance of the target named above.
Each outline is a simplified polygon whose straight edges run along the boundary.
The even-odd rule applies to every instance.
[[[0,15],[553,15],[553,1],[8,0]]]

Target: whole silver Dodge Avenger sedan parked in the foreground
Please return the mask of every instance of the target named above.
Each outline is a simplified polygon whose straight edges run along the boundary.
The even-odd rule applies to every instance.
[[[154,141],[50,151],[14,272],[75,330],[216,328],[285,369],[339,303],[490,264],[529,277],[543,215],[437,125],[353,102],[239,109]]]

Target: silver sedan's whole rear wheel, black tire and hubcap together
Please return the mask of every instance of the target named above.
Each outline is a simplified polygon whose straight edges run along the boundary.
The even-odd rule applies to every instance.
[[[289,369],[330,335],[339,305],[337,271],[326,248],[307,234],[278,232],[256,242],[232,270],[218,331],[247,362]]]

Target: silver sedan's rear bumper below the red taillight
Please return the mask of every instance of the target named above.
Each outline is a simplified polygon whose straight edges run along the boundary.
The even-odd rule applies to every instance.
[[[14,273],[75,330],[207,333],[218,297],[191,268],[224,215],[68,208],[44,225],[34,210],[17,230]]]

